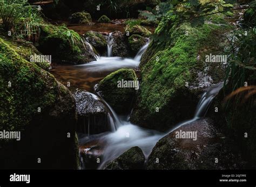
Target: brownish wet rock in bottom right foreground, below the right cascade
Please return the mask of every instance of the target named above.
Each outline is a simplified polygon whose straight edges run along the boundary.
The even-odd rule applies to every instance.
[[[177,136],[188,132],[190,137]],[[211,119],[197,120],[160,139],[147,169],[241,169],[244,162],[231,145],[234,143],[213,126]]]

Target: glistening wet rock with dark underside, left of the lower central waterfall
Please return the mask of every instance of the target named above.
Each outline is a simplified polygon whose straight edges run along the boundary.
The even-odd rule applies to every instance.
[[[102,102],[83,90],[77,90],[73,96],[78,116],[77,132],[99,134],[110,130],[107,110]]]

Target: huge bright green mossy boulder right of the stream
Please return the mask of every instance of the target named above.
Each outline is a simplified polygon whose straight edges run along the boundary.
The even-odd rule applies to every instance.
[[[224,38],[231,30],[228,23],[210,21],[197,27],[170,24],[167,35],[163,27],[160,23],[156,34],[165,39],[151,42],[140,62],[142,81],[131,116],[132,123],[159,131],[191,119],[204,90],[223,81],[223,64],[206,63],[206,55],[226,55]]]

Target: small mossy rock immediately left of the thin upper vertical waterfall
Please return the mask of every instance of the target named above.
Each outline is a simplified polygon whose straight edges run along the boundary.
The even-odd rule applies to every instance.
[[[85,39],[98,51],[103,51],[107,47],[107,42],[103,34],[95,31],[88,31],[84,35]]]

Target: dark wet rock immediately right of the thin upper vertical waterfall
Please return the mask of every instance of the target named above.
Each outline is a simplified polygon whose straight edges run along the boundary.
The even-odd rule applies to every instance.
[[[112,37],[113,37],[113,48],[112,48],[113,56],[129,57],[130,56],[129,44],[125,35],[120,31],[114,31],[112,33]]]

